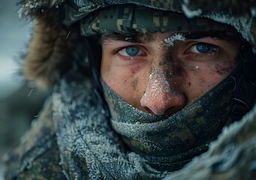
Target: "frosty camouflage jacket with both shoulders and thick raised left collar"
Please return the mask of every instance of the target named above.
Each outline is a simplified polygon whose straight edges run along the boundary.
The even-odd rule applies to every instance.
[[[145,163],[149,161],[128,151],[107,119],[98,118],[101,109],[89,111],[95,108],[88,109],[84,101],[92,98],[90,91],[83,74],[66,75],[38,123],[24,136],[20,147],[5,158],[6,179],[155,180],[167,175],[155,170],[152,175],[153,169]],[[255,108],[209,145],[213,150],[166,179],[254,179]]]

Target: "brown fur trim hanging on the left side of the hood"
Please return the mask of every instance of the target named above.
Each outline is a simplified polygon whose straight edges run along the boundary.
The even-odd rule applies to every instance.
[[[80,39],[77,24],[66,27],[62,23],[64,0],[20,1],[20,15],[32,18],[32,39],[24,56],[23,75],[42,89],[59,80],[63,71],[71,67],[74,49]]]

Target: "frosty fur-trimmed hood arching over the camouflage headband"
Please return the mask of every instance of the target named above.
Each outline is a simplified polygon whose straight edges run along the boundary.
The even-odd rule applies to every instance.
[[[23,74],[46,88],[71,67],[75,49],[81,42],[79,21],[89,13],[111,5],[134,4],[184,13],[187,17],[206,17],[236,28],[254,46],[256,1],[202,0],[22,0],[20,14],[32,18],[34,29],[29,52],[24,57]],[[86,49],[85,49],[86,50]]]

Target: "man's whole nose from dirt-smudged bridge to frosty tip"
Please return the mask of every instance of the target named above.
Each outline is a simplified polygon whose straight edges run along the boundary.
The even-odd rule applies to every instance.
[[[185,98],[173,87],[176,78],[173,77],[172,71],[169,54],[161,53],[152,61],[146,91],[140,99],[141,106],[150,113],[172,114],[184,106]]]

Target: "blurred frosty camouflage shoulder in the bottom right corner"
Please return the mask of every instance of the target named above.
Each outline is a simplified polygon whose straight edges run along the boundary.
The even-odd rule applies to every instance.
[[[209,151],[164,180],[252,180],[256,177],[256,106],[225,127]]]

